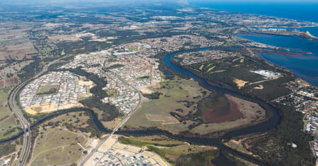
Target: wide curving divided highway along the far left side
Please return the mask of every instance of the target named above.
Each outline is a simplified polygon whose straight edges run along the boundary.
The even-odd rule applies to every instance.
[[[73,56],[73,55],[69,55],[66,57],[71,57],[71,56]],[[56,59],[54,61],[49,62],[49,64],[47,64],[43,67],[43,69],[42,69],[42,71],[40,71],[40,73],[37,73],[32,78],[29,78],[28,80],[23,81],[22,83],[20,83],[20,85],[16,86],[16,88],[11,90],[10,96],[8,97],[8,105],[9,105],[9,108],[11,109],[11,111],[14,114],[16,114],[18,121],[20,121],[20,124],[21,124],[22,129],[23,129],[23,135],[24,135],[23,148],[22,148],[22,152],[20,154],[20,158],[18,161],[18,166],[25,165],[25,162],[27,162],[27,160],[28,160],[28,156],[29,156],[30,148],[31,148],[31,129],[30,129],[30,124],[28,122],[28,119],[25,119],[25,117],[23,116],[22,110],[20,110],[16,104],[16,95],[18,94],[20,89],[23,88],[23,86],[25,84],[27,84],[33,78],[37,78],[37,77],[41,76],[42,73],[45,73],[51,64],[54,64],[55,62],[59,61],[60,59],[63,59],[66,57],[61,57],[59,59]]]

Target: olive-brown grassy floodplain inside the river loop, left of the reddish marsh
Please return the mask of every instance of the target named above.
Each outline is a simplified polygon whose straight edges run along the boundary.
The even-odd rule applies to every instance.
[[[178,112],[181,115],[186,115],[190,111],[193,112],[196,102],[208,95],[208,91],[204,90],[195,81],[186,79],[163,81],[160,86],[161,88],[157,90],[163,95],[160,95],[158,100],[143,102],[141,108],[126,122],[127,127],[157,126],[160,129],[177,133],[187,131],[188,126],[193,122],[180,123],[178,119],[172,117],[170,112],[176,112],[176,109],[182,109],[182,112]],[[206,92],[206,95],[203,94],[204,92]],[[187,102],[184,101],[193,104],[187,107]]]

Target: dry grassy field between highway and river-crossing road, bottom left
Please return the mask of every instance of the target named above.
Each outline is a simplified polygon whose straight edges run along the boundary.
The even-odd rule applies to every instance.
[[[68,165],[81,158],[86,138],[71,131],[57,128],[40,130],[31,165]]]

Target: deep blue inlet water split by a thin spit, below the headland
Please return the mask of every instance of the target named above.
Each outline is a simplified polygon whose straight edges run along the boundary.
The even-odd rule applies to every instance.
[[[301,56],[281,55],[273,53],[259,52],[259,56],[266,61],[293,71],[295,75],[304,79],[308,83],[318,87],[318,41],[300,39],[295,36],[265,35],[265,34],[237,34],[246,40],[284,47],[290,50],[312,52],[312,54],[302,54]]]

